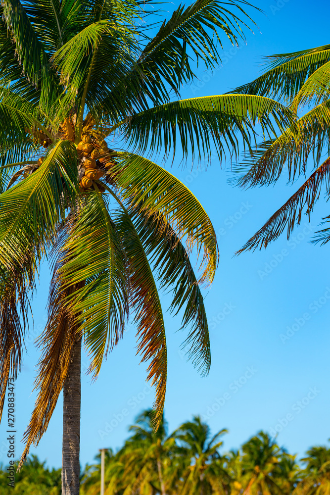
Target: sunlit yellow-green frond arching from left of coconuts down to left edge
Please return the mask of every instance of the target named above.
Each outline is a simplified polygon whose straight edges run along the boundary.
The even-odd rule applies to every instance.
[[[66,216],[69,200],[79,197],[77,154],[73,144],[59,141],[40,168],[0,195],[1,262],[24,259],[28,248],[47,243]],[[3,260],[2,260],[3,258]]]

